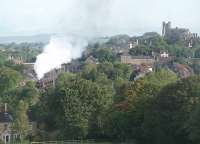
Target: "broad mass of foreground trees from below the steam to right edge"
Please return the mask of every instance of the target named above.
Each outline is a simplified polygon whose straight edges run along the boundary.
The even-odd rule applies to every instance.
[[[129,70],[103,63],[61,74],[37,105],[45,130],[55,139],[199,143],[200,77],[159,69],[131,81]]]

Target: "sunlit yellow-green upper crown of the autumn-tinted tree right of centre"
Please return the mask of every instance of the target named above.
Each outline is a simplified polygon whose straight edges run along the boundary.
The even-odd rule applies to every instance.
[[[128,101],[136,99],[148,99],[154,97],[164,86],[177,81],[177,75],[165,69],[149,73],[145,77],[130,83],[128,89]]]

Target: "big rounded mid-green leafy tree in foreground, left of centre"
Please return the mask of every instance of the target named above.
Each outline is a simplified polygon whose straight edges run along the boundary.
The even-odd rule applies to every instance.
[[[58,78],[55,93],[48,100],[49,110],[54,113],[56,125],[65,138],[84,138],[94,129],[94,123],[102,123],[104,111],[112,103],[112,91],[103,83],[80,77],[60,78],[63,76]],[[98,131],[101,127],[98,125]]]

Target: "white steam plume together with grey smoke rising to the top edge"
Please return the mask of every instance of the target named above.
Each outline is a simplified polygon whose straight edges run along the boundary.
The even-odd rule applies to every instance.
[[[100,36],[105,31],[102,21],[107,23],[109,1],[71,0],[69,8],[72,12],[66,13],[68,25],[63,27],[67,34],[52,37],[43,52],[37,56],[34,69],[38,79],[52,69],[61,67],[63,63],[79,58],[87,45],[87,39]],[[63,23],[66,24],[66,21]]]

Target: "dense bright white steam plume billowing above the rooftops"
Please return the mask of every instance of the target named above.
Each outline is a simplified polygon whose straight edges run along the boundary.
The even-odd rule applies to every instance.
[[[34,69],[38,79],[52,69],[60,68],[63,63],[69,63],[72,59],[79,58],[86,45],[87,41],[78,37],[52,37],[43,52],[37,56]]]

